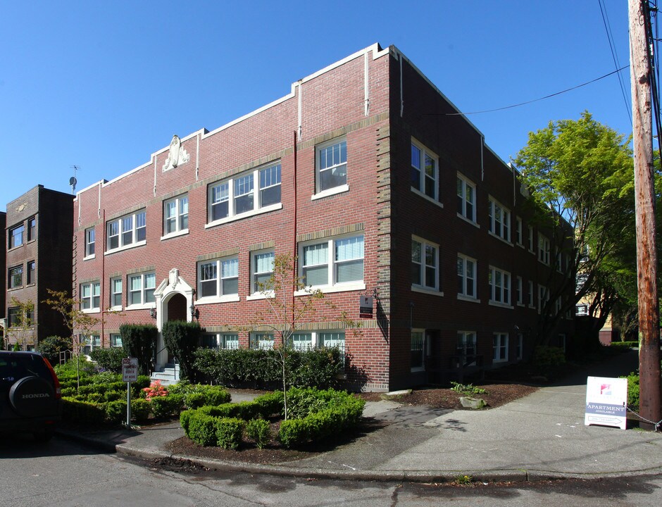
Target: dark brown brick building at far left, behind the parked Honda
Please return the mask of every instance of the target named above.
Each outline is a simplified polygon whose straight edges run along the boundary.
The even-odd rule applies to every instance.
[[[37,185],[7,204],[4,229],[4,346],[34,350],[46,337],[68,336],[62,316],[44,300],[48,289],[71,293],[73,196]]]

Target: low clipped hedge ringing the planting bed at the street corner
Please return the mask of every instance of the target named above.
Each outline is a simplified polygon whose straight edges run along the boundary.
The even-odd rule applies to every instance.
[[[305,415],[285,420],[280,425],[278,439],[286,447],[301,446],[344,432],[358,423],[365,404],[351,394],[333,389],[290,389],[288,399],[293,406],[299,406],[295,413]],[[304,409],[305,404],[308,407]],[[180,414],[180,423],[187,437],[203,446],[237,449],[244,427],[248,436],[262,446],[268,436],[268,423],[256,421],[282,413],[282,410],[282,392],[275,392],[251,402],[188,410]]]

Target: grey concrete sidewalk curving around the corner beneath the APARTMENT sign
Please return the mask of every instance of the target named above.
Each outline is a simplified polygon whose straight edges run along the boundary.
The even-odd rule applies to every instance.
[[[584,425],[587,375],[629,373],[636,358],[630,351],[573,377],[582,383],[544,387],[487,411],[369,402],[364,416],[391,424],[333,451],[281,465],[171,455],[166,445],[184,434],[178,423],[68,436],[142,458],[183,458],[209,468],[299,477],[442,482],[471,475],[488,482],[662,472],[662,433]],[[242,401],[235,396],[233,401]]]

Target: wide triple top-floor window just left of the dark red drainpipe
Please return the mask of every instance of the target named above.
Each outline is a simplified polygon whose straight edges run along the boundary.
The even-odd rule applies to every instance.
[[[273,163],[209,185],[208,225],[282,208],[280,169]]]

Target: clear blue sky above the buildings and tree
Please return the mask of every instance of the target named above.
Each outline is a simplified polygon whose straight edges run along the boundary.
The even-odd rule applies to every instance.
[[[627,2],[603,0],[620,66]],[[285,5],[288,5],[286,8]],[[5,2],[0,210],[44,184],[70,192],[289,93],[375,42],[394,44],[463,112],[537,99],[616,69],[598,0]],[[616,75],[533,104],[469,115],[508,161],[532,130],[588,110],[630,134]]]

